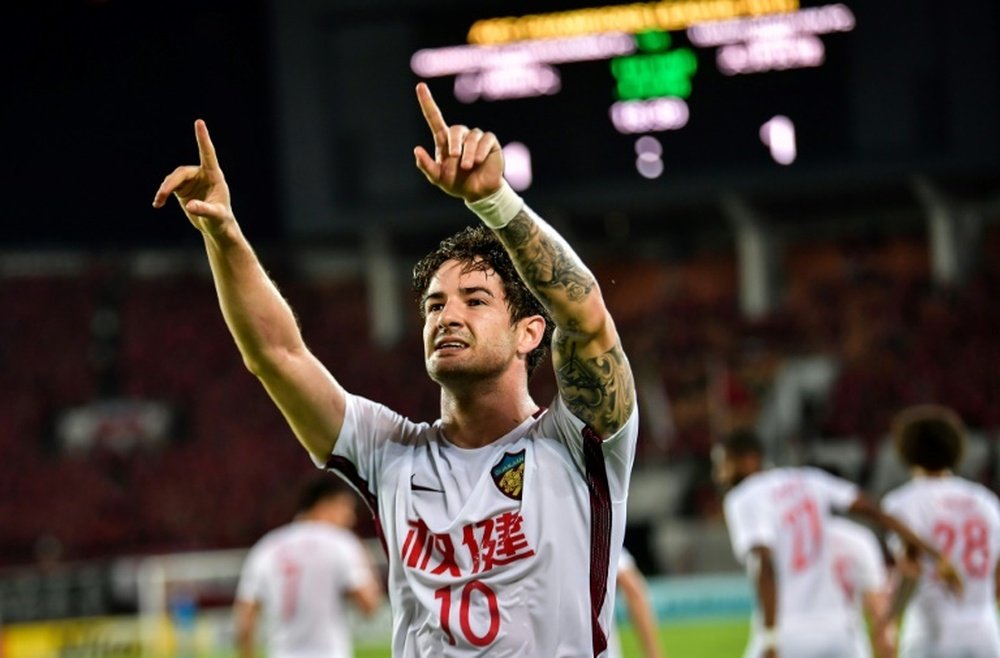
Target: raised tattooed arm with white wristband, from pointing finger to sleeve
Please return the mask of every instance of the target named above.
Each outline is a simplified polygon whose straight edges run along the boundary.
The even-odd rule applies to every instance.
[[[417,99],[434,136],[433,157],[421,146],[414,149],[417,167],[441,190],[464,199],[496,232],[555,322],[552,360],[563,399],[601,438],[611,436],[632,413],[635,382],[597,280],[504,181],[496,136],[446,123],[423,83]]]

